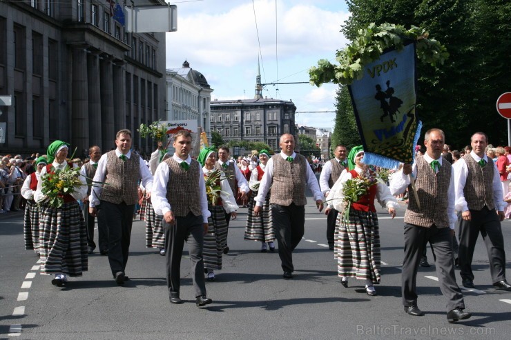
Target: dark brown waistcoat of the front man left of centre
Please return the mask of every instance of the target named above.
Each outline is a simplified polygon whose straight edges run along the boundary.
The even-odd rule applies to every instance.
[[[191,160],[190,168],[185,171],[173,158],[164,161],[168,166],[166,198],[175,216],[186,217],[189,212],[202,215],[200,206],[199,162]]]

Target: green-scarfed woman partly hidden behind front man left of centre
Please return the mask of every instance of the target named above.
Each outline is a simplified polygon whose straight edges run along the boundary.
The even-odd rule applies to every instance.
[[[215,270],[222,269],[222,254],[227,241],[225,212],[228,214],[232,213],[233,218],[235,218],[238,205],[235,202],[229,182],[226,181],[224,172],[215,169],[215,148],[211,147],[200,150],[197,161],[202,165],[204,179],[206,179],[208,210],[211,212],[211,217],[208,219],[209,229],[204,235],[204,271],[208,275],[208,280],[214,281]],[[212,185],[217,190],[220,188],[220,192],[215,194],[213,188],[208,186],[209,177],[218,177]]]

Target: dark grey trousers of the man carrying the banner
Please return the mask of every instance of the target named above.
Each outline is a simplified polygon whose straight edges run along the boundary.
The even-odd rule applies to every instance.
[[[447,299],[447,312],[455,308],[465,308],[463,294],[456,283],[454,274],[450,228],[436,228],[436,226],[425,228],[408,223],[405,224],[405,259],[403,259],[403,272],[401,273],[403,306],[417,306],[418,263],[421,261],[428,241],[436,254],[436,275],[438,283],[440,283],[440,290]]]

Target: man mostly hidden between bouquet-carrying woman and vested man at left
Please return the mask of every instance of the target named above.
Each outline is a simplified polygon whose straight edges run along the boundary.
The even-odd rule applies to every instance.
[[[92,181],[94,175],[96,174],[97,162],[101,158],[101,149],[99,146],[91,146],[88,149],[88,156],[90,161],[81,166],[80,173],[83,177],[87,179],[88,191],[87,196],[84,199],[84,218],[85,218],[85,226],[87,229],[87,250],[89,254],[92,254],[96,248],[96,243],[94,243],[94,220],[95,217],[89,214],[88,212],[88,197],[90,195],[90,190],[92,189]],[[104,224],[97,224],[97,243],[99,243],[99,252],[102,255],[108,254],[108,239],[106,226]]]

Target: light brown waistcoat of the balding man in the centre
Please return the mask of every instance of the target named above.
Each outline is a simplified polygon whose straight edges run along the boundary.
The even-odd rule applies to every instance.
[[[305,206],[305,187],[307,186],[307,159],[296,154],[294,161],[283,159],[280,154],[271,157],[273,159],[273,178],[271,182],[271,204],[280,206]]]

